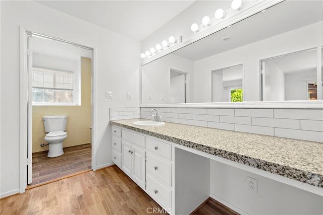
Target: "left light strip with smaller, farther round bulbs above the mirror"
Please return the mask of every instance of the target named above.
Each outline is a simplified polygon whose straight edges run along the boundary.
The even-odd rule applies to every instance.
[[[140,57],[146,60],[181,43],[182,43],[182,36],[179,36],[179,37],[171,36],[168,38],[168,40],[163,40],[160,44],[156,44],[154,47],[151,47],[149,50],[145,51],[144,53],[141,53]]]

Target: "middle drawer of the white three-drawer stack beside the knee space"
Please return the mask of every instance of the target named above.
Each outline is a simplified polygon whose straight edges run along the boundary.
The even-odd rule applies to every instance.
[[[147,153],[146,171],[168,186],[172,186],[172,164]]]

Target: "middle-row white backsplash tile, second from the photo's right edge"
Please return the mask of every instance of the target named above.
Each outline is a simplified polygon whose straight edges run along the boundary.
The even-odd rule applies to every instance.
[[[252,117],[252,125],[299,129],[300,120],[298,119],[276,119],[276,118],[257,118]]]

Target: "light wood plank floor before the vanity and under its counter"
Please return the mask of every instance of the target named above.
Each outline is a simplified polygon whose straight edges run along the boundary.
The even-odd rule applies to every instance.
[[[164,214],[116,165],[0,199],[0,214]],[[229,211],[229,212],[228,212]],[[231,213],[230,213],[231,211]],[[165,213],[166,214],[166,213]],[[237,214],[208,199],[192,214]]]

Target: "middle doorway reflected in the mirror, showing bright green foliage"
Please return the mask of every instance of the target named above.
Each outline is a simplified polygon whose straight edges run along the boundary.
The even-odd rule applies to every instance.
[[[242,102],[242,77],[242,64],[213,70],[212,102]]]

